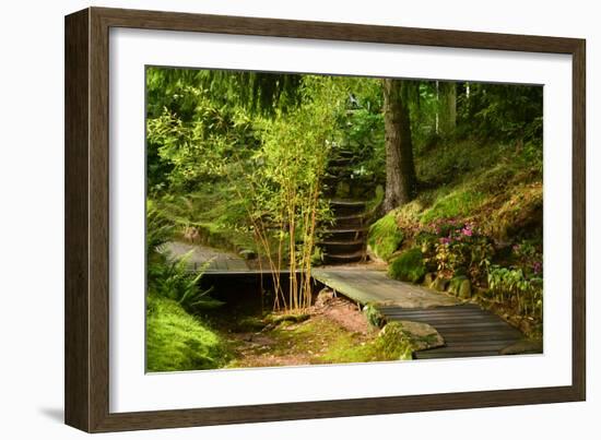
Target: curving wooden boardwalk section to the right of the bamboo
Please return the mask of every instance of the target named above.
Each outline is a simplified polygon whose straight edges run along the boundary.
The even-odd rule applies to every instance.
[[[445,346],[416,352],[416,359],[498,356],[502,349],[525,337],[478,305],[390,280],[384,272],[320,269],[314,271],[314,277],[362,305],[375,305],[389,322],[423,322],[435,328],[445,340]]]

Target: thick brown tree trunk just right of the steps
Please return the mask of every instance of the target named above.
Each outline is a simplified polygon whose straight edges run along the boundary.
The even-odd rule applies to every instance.
[[[384,80],[385,213],[408,203],[415,195],[415,166],[404,87],[401,80]]]

